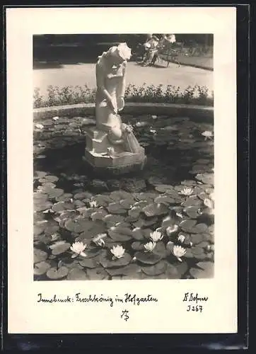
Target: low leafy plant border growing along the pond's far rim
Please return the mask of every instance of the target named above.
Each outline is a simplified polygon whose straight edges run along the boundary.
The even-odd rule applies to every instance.
[[[188,86],[180,91],[180,86],[168,85],[165,88],[162,84],[158,86],[135,86],[127,85],[125,101],[137,103],[188,103],[195,105],[213,105],[214,93],[206,86]],[[33,107],[50,107],[53,105],[71,105],[76,103],[94,103],[95,89],[88,86],[48,86],[47,96],[42,96],[40,89],[35,88],[33,95]]]

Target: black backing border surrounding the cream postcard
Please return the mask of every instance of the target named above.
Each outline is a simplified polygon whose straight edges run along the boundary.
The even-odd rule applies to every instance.
[[[141,5],[142,6],[142,5]],[[198,6],[198,5],[197,5]],[[214,5],[215,6],[215,5]],[[227,5],[225,5],[227,6]],[[232,4],[232,6],[235,6]],[[11,6],[13,7],[13,6]],[[35,6],[31,6],[35,7]],[[39,6],[42,7],[42,6]],[[47,6],[49,7],[49,6]],[[57,7],[57,6],[54,6]],[[127,346],[133,348],[143,348],[144,346],[153,346],[156,348],[192,348],[200,346],[200,348],[240,348],[247,346],[248,336],[248,241],[245,241],[245,234],[248,238],[248,127],[249,122],[245,120],[248,117],[249,103],[249,65],[248,50],[249,42],[244,38],[248,38],[249,33],[249,11],[248,6],[235,6],[237,8],[237,82],[238,82],[238,120],[237,120],[237,147],[238,152],[238,333],[221,333],[221,334],[158,334],[151,336],[150,334],[115,334],[115,345],[113,346],[113,334],[65,334],[65,335],[20,335],[7,333],[7,222],[2,222],[4,237],[2,241],[1,252],[4,255],[4,262],[1,263],[2,274],[4,275],[4,291],[1,297],[4,302],[4,317],[2,317],[4,349],[21,349],[32,350],[37,348],[112,348],[116,346]],[[6,44],[6,43],[5,43]],[[4,46],[4,72],[6,72],[6,45]],[[4,83],[4,91],[6,91],[6,78]],[[6,99],[4,101],[4,117],[6,118]],[[2,138],[2,173],[4,176],[4,193],[6,195],[6,119],[1,125]],[[246,156],[245,156],[246,155]],[[247,173],[245,173],[245,171]],[[1,186],[3,184],[1,183]],[[3,188],[3,187],[2,187]],[[1,200],[3,217],[6,220],[7,202]],[[245,282],[245,279],[247,280]],[[2,288],[3,289],[3,288]],[[2,315],[3,316],[3,315]],[[99,338],[100,336],[100,338]]]

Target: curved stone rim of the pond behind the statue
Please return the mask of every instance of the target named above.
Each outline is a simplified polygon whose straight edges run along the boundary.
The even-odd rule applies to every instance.
[[[94,115],[95,103],[78,103],[74,105],[55,105],[33,109],[33,119],[52,118],[54,115],[78,117]],[[175,103],[126,103],[122,114],[131,115],[173,115],[189,116],[199,121],[214,122],[214,107],[206,105],[175,104]]]

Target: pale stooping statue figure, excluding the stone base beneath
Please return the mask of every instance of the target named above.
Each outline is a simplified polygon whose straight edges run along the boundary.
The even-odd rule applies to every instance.
[[[140,152],[141,147],[131,127],[122,123],[118,112],[124,108],[127,60],[131,50],[126,43],[110,47],[98,57],[96,64],[96,126],[107,132],[113,145],[122,145],[126,152]]]

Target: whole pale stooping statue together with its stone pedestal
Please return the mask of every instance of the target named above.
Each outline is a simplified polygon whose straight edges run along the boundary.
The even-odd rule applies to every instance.
[[[98,57],[95,100],[96,127],[86,133],[85,159],[94,167],[131,170],[143,168],[144,148],[139,145],[132,127],[118,114],[124,108],[127,60],[131,50],[126,43],[110,47]]]

